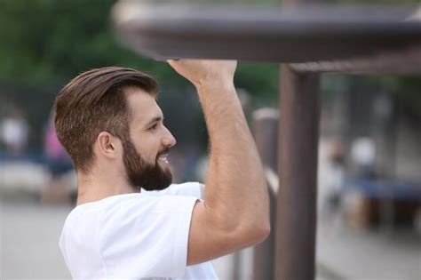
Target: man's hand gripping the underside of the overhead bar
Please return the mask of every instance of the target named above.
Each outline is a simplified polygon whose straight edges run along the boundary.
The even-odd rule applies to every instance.
[[[168,60],[168,63],[196,88],[203,84],[233,84],[237,67],[235,60]]]

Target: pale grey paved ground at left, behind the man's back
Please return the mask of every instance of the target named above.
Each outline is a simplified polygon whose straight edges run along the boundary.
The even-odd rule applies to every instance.
[[[58,246],[69,207],[0,202],[0,279],[69,279]]]

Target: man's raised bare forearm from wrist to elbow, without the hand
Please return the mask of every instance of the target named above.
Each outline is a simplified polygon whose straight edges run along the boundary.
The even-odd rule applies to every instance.
[[[211,142],[206,206],[228,230],[268,227],[266,180],[234,84],[212,81],[197,89]]]

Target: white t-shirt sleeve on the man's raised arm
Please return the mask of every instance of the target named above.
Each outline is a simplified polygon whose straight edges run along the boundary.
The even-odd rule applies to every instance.
[[[107,276],[183,276],[196,201],[193,196],[138,196],[104,212],[99,254]]]

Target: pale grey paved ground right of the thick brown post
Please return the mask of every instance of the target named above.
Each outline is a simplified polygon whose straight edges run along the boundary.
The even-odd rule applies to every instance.
[[[408,229],[393,233],[319,228],[317,262],[355,280],[421,279],[421,236]]]

